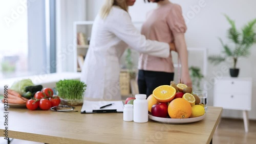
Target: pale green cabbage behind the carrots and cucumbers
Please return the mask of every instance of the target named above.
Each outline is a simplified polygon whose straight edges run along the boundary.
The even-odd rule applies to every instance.
[[[16,81],[12,84],[12,86],[10,87],[10,89],[18,92],[19,94],[24,94],[26,93],[25,91],[25,87],[26,86],[33,86],[33,82],[30,79],[23,79],[23,80],[19,80]]]

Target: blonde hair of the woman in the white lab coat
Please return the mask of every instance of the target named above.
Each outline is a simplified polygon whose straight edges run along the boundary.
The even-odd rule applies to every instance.
[[[128,6],[126,5],[126,0],[105,0],[105,4],[101,7],[100,16],[101,18],[106,18],[113,6],[118,6],[124,11],[128,12]]]

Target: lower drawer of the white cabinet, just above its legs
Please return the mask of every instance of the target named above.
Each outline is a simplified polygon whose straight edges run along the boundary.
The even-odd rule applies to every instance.
[[[244,94],[220,94],[216,93],[214,106],[224,109],[251,110],[251,99]]]

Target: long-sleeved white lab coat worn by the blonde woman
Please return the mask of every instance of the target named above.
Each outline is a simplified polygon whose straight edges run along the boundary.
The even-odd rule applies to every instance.
[[[127,46],[140,53],[169,56],[169,45],[146,40],[134,27],[129,13],[114,6],[104,20],[98,15],[93,23],[90,47],[81,72],[87,84],[86,98],[121,100],[119,87],[120,57]]]

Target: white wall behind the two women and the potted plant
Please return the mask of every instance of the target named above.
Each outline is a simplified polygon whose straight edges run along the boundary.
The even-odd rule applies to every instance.
[[[229,28],[229,24],[226,21],[223,13],[229,15],[237,22],[238,28],[241,28],[248,20],[256,18],[255,6],[256,1],[232,1],[232,0],[174,0],[173,3],[181,5],[183,9],[183,15],[186,19],[188,30],[186,32],[186,42],[188,47],[207,47],[209,54],[219,54],[222,51],[221,44],[218,37],[226,39],[226,30]],[[90,1],[88,14],[90,19],[93,20],[100,9],[103,1],[94,0]],[[91,7],[92,6],[92,7]],[[200,7],[201,6],[201,7]],[[143,0],[137,0],[135,6],[131,7],[130,14],[133,21],[145,20],[145,14],[148,10],[156,7],[156,4],[144,4]],[[199,8],[198,8],[199,7]],[[252,47],[252,53],[249,58],[241,58],[238,61],[238,67],[240,68],[239,77],[252,77],[253,78],[253,90],[252,90],[252,110],[249,112],[250,119],[256,119],[256,67],[253,65],[253,61],[256,58],[253,55],[256,54],[256,46]],[[195,56],[189,56],[195,57]],[[193,64],[193,62],[189,62]],[[209,105],[213,105],[213,83],[212,79],[216,77],[215,73],[220,71],[222,66],[230,67],[227,63],[223,63],[219,66],[212,66],[208,64],[208,75],[206,81],[210,83],[209,86]],[[228,73],[222,73],[222,76],[229,77]],[[242,90],[242,89],[241,89]],[[241,98],[241,103],[243,99]],[[227,103],[228,105],[228,103]],[[241,111],[224,110],[224,117],[242,117]]]

